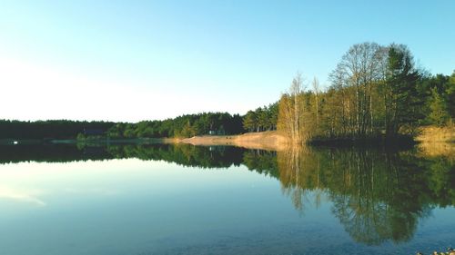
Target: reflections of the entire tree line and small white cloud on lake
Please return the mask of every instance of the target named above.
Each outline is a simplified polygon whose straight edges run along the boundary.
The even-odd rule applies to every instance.
[[[301,147],[267,152],[187,144],[0,147],[1,163],[123,158],[200,168],[244,164],[250,171],[277,178],[302,214],[308,203],[318,207],[322,198],[328,198],[331,211],[352,239],[369,245],[408,241],[433,208],[455,205],[454,162],[448,157],[425,157],[415,149]],[[40,202],[30,194],[6,190],[0,190],[0,197]]]

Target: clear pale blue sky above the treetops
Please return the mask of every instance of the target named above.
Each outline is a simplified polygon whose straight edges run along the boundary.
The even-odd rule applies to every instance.
[[[451,74],[455,1],[0,0],[0,119],[243,114],[363,42]]]

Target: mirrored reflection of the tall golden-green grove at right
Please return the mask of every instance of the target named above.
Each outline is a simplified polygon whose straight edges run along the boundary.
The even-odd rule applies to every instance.
[[[298,211],[308,191],[316,204],[326,192],[349,235],[369,245],[410,240],[434,206],[454,204],[453,165],[414,152],[300,148],[278,152],[278,171]]]

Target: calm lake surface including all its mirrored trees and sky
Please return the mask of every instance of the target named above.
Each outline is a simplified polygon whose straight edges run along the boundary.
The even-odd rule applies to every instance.
[[[417,149],[1,147],[0,253],[445,250],[454,162]]]

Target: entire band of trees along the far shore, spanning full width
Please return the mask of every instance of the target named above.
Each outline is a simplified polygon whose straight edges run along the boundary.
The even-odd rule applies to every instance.
[[[278,130],[291,141],[414,136],[425,125],[451,126],[455,71],[430,74],[404,44],[354,44],[329,74],[329,87],[297,74],[278,102],[245,115],[185,114],[138,123],[0,120],[0,139],[185,138]],[[152,110],[151,110],[152,111]]]

